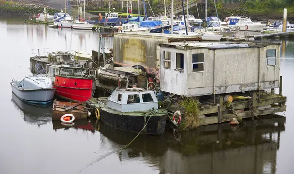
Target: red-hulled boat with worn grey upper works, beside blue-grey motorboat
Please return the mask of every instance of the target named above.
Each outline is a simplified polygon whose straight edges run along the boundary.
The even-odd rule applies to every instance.
[[[93,97],[95,71],[80,67],[60,67],[58,70],[53,83],[56,96],[73,102],[87,101]]]

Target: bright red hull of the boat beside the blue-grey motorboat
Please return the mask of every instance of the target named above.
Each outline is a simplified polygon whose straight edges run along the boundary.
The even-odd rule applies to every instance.
[[[56,88],[56,96],[73,101],[87,101],[92,97],[95,89],[95,81],[93,79],[70,78],[55,76],[53,87]]]

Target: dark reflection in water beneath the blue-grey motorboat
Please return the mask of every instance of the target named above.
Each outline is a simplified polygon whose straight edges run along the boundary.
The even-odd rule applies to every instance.
[[[21,101],[14,93],[12,93],[11,101],[25,122],[29,124],[40,127],[52,121],[52,104],[48,107],[29,105]]]

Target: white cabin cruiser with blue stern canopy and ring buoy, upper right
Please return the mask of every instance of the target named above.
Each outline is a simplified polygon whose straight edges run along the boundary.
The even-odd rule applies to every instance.
[[[266,25],[261,22],[252,22],[250,18],[232,18],[228,27],[245,31],[262,31]]]

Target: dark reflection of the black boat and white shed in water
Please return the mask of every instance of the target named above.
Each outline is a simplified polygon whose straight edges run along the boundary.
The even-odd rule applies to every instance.
[[[139,136],[130,148],[119,152],[120,161],[143,158],[160,173],[238,174],[276,172],[280,133],[285,117],[273,115],[246,125],[211,125],[198,130],[168,130],[164,136]],[[135,135],[100,123],[99,131],[111,141],[126,145]]]

